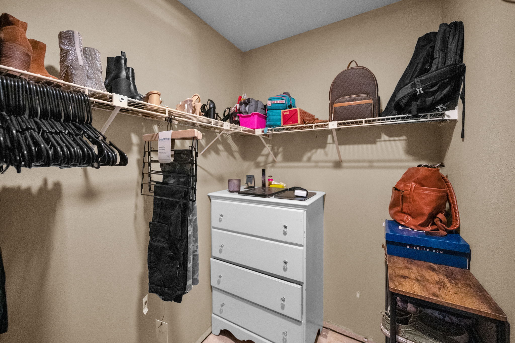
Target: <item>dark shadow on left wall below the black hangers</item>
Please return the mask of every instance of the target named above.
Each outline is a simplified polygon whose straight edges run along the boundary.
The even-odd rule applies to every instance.
[[[56,211],[62,196],[59,182],[47,180],[37,190],[2,187],[0,189],[0,244],[6,272],[9,329],[0,341],[44,341],[45,317],[50,307],[45,301],[48,269],[51,265]],[[30,325],[30,330],[25,330]]]

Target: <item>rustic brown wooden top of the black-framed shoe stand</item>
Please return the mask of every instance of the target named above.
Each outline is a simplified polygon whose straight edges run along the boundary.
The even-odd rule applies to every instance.
[[[501,307],[470,270],[388,255],[390,291],[506,321]]]

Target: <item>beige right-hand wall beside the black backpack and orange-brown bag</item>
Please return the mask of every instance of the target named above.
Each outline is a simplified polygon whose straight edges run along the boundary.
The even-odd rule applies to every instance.
[[[515,4],[445,0],[442,20],[454,18],[465,25],[466,131],[464,141],[458,128],[444,132],[444,173],[458,196],[461,234],[472,248],[470,269],[513,325]]]

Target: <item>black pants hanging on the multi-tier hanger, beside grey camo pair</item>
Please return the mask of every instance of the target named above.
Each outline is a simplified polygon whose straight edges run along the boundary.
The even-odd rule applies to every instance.
[[[154,186],[148,291],[165,301],[181,302],[186,289],[191,167],[191,150],[176,150],[174,162],[161,164],[163,182]]]

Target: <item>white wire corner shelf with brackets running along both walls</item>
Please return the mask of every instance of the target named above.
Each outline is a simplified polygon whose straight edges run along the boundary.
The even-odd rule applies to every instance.
[[[408,124],[408,123],[444,123],[449,121],[457,121],[458,114],[457,110],[450,110],[445,112],[432,112],[418,115],[396,115],[390,117],[377,117],[367,119],[355,119],[351,121],[341,122],[325,122],[319,124],[305,124],[305,125],[292,125],[292,126],[281,126],[276,128],[266,129],[249,129],[243,126],[230,124],[227,122],[221,122],[216,119],[210,119],[204,116],[198,116],[191,113],[181,112],[167,106],[152,105],[148,102],[139,101],[131,98],[124,97],[122,95],[107,93],[84,87],[82,85],[65,82],[62,80],[56,80],[39,74],[29,73],[27,71],[18,70],[12,67],[0,65],[0,76],[9,75],[14,77],[24,77],[25,79],[36,82],[45,83],[47,85],[60,85],[66,90],[74,92],[83,92],[88,94],[91,101],[91,106],[94,109],[104,110],[111,112],[107,122],[100,130],[102,133],[106,132],[107,128],[111,125],[115,116],[118,113],[138,116],[142,118],[155,119],[158,121],[168,121],[170,118],[173,123],[194,127],[198,129],[210,130],[217,132],[216,138],[211,141],[205,148],[199,153],[199,156],[207,150],[222,134],[234,134],[241,136],[258,136],[263,142],[271,157],[277,162],[276,157],[273,155],[270,147],[263,139],[270,138],[274,134],[279,133],[292,133],[292,132],[305,132],[305,131],[320,131],[320,130],[331,130],[333,134],[334,143],[338,152],[338,159],[341,162],[341,155],[338,145],[338,139],[336,136],[336,130],[345,128],[355,127],[369,127],[377,125],[396,125],[396,124]]]

